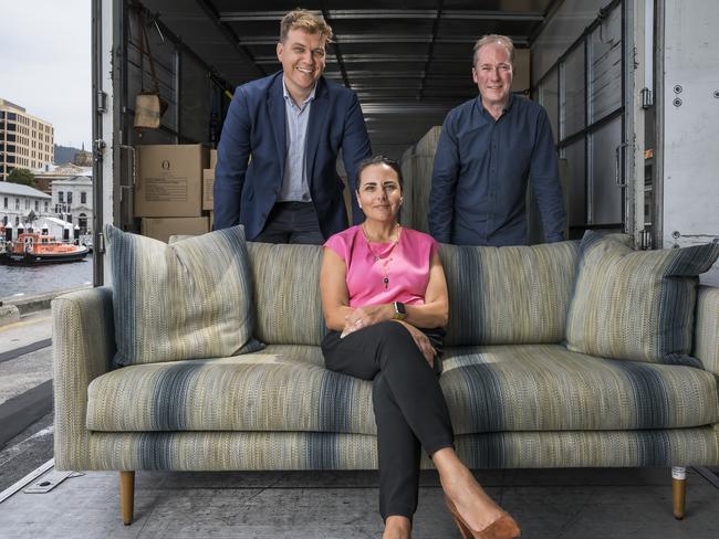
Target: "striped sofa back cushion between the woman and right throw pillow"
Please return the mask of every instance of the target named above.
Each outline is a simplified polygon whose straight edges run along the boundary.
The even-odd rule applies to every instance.
[[[579,242],[442,245],[448,346],[561,342]]]

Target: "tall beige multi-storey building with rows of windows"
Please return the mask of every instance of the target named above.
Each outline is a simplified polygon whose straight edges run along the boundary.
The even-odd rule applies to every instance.
[[[40,169],[53,162],[52,124],[0,98],[0,180],[15,168]]]

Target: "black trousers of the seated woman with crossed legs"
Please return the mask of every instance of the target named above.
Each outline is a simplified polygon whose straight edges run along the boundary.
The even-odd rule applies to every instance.
[[[331,331],[322,341],[327,369],[373,380],[383,519],[417,510],[420,447],[431,455],[454,446],[439,380],[409,331],[395,321],[366,327],[344,339]]]

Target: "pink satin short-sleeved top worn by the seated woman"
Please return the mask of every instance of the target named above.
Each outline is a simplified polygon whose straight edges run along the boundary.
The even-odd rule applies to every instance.
[[[438,249],[430,235],[403,228],[396,244],[368,244],[362,228],[355,225],[331,236],[324,246],[347,266],[350,307],[425,303],[429,261]]]

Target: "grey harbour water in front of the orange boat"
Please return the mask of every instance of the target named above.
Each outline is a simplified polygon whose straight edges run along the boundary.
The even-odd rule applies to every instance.
[[[84,261],[69,262],[66,264],[0,265],[0,298],[8,298],[18,294],[32,296],[92,284],[92,256],[90,254]]]

